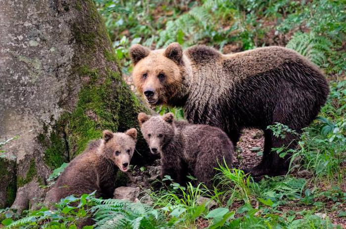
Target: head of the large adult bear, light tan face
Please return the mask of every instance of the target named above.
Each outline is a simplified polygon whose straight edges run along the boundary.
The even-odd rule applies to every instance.
[[[153,51],[139,44],[131,46],[133,82],[148,103],[167,103],[181,87],[182,55],[182,48],[178,43]]]

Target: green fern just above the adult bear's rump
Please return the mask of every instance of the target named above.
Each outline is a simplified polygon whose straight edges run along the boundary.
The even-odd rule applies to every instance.
[[[327,63],[327,53],[331,52],[333,43],[325,36],[315,33],[295,33],[286,48],[296,50],[316,65]]]

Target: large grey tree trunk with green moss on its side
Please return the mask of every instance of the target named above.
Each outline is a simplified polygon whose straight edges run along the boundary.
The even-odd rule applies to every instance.
[[[147,109],[124,83],[92,0],[0,0],[0,22],[0,142],[19,135],[1,149],[0,208],[15,197],[24,209],[52,169],[103,129],[137,127]],[[147,159],[140,153],[135,162]]]

